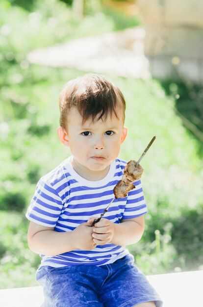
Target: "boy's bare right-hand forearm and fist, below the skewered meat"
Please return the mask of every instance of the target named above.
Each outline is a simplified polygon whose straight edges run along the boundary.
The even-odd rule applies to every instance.
[[[116,245],[134,244],[141,239],[144,228],[144,215],[133,219],[124,219],[120,224],[112,223],[103,218],[93,228],[93,241],[97,245],[104,245],[109,242]]]

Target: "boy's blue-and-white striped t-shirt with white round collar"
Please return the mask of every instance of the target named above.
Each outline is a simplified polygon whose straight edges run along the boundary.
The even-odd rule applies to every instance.
[[[105,178],[89,181],[79,176],[71,165],[71,157],[42,177],[27,209],[28,220],[56,231],[72,231],[90,217],[99,217],[114,198],[113,188],[121,180],[126,161],[116,159]],[[141,181],[127,197],[115,199],[104,218],[112,223],[135,218],[147,212]],[[91,251],[74,250],[57,256],[42,257],[41,265],[102,265],[113,263],[128,253],[125,246],[108,243]]]

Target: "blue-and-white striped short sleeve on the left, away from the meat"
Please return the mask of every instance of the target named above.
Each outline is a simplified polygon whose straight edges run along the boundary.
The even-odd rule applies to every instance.
[[[55,227],[63,204],[50,183],[39,180],[34,196],[26,212],[26,218],[36,224]]]

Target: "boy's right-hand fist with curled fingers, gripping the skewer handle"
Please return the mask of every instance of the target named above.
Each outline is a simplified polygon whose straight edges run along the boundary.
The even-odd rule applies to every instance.
[[[89,221],[92,221],[92,218]],[[114,236],[114,224],[107,219],[101,218],[101,220],[98,223],[96,223],[95,226],[93,227],[92,237],[93,241],[97,245],[105,245],[111,242],[113,236]]]

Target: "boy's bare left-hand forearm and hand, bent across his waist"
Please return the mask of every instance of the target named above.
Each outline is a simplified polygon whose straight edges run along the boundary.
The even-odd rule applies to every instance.
[[[92,221],[82,223],[75,230],[58,232],[51,227],[30,222],[27,242],[36,254],[54,256],[75,249],[92,250],[96,244],[92,239]]]

